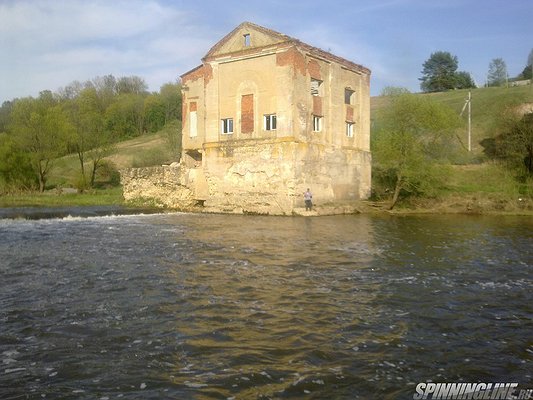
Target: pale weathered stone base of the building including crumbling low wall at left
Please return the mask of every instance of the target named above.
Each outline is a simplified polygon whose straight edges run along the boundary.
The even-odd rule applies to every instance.
[[[207,145],[198,159],[121,171],[124,198],[177,210],[345,214],[370,193],[370,154],[289,140]],[[310,188],[316,210],[303,209]]]

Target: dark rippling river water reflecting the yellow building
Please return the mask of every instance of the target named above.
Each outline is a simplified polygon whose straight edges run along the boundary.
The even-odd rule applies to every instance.
[[[533,219],[0,220],[1,399],[533,382]]]

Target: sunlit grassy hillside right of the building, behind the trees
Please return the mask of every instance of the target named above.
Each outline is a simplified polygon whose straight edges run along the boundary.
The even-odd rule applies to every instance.
[[[481,88],[472,93],[472,152],[465,151],[462,165],[443,166],[448,170],[445,187],[440,188],[438,198],[415,201],[417,207],[449,211],[449,206],[461,209],[465,204],[481,204],[480,212],[510,211],[522,212],[533,207],[532,182],[517,182],[514,174],[498,163],[488,160],[483,154],[480,141],[497,134],[497,119],[506,104],[533,103],[533,87]],[[418,94],[450,106],[458,114],[461,112],[468,90],[455,90],[443,93]],[[390,97],[371,99],[371,119],[373,128],[379,126],[380,111],[390,102]],[[463,113],[463,127],[457,132],[463,145],[467,144],[467,112]],[[461,157],[459,157],[461,158]],[[380,188],[383,189],[383,188]],[[468,206],[471,207],[471,206]],[[453,207],[452,207],[453,208]]]

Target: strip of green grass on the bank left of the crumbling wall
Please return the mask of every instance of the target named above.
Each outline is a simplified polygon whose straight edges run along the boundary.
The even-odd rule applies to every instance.
[[[87,193],[48,191],[0,196],[0,207],[68,207],[123,205],[122,188],[92,190]]]

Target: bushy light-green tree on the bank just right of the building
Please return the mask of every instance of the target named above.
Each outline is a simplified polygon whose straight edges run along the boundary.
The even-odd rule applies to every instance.
[[[378,179],[394,186],[392,209],[402,192],[430,194],[440,186],[441,149],[460,122],[449,107],[410,94],[394,96],[382,121],[372,151]]]

